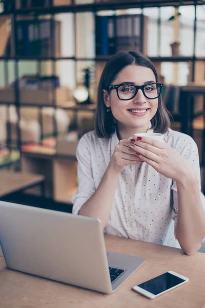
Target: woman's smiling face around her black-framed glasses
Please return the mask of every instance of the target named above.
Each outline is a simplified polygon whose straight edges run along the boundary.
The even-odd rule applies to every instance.
[[[131,83],[141,86],[155,82],[155,75],[150,68],[128,65],[119,72],[112,85]],[[125,91],[129,91],[129,89],[125,89]],[[111,90],[108,95],[105,93],[104,99],[106,106],[112,110],[118,129],[129,130],[130,128],[135,129],[136,132],[147,131],[149,122],[158,107],[158,98],[147,99],[141,89],[138,89],[135,97],[128,101],[120,100],[115,89]]]

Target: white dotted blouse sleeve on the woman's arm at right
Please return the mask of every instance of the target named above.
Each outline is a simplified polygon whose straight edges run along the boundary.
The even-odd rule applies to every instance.
[[[189,161],[189,163],[196,171],[201,203],[203,206],[203,211],[205,213],[205,200],[204,200],[205,198],[202,192],[200,191],[201,190],[200,165],[199,165],[198,148],[195,141],[190,137],[188,142],[185,143],[185,145],[180,146],[180,151],[178,152],[180,153],[180,155],[184,156]],[[175,221],[175,227],[176,227],[177,214],[178,214],[178,198],[177,198],[177,186],[175,180],[173,180],[173,185],[172,185],[172,196],[173,196],[172,219]],[[175,228],[174,228],[174,233],[175,233]]]

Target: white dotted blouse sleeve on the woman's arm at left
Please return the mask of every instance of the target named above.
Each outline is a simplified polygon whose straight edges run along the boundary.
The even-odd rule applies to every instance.
[[[88,200],[95,192],[95,184],[93,180],[90,142],[88,136],[85,134],[79,141],[76,157],[77,157],[77,176],[78,189],[76,194],[71,198],[73,203],[72,213],[79,214],[81,206]]]

